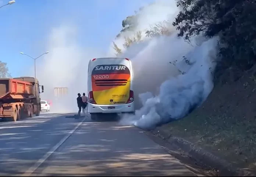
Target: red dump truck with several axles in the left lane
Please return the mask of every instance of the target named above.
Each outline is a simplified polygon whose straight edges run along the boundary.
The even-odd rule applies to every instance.
[[[16,121],[39,116],[40,109],[40,85],[36,78],[0,79],[0,118]]]

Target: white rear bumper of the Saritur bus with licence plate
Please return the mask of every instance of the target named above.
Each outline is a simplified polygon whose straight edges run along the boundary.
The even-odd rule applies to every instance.
[[[89,113],[121,113],[134,112],[134,102],[128,104],[96,105],[88,103]]]

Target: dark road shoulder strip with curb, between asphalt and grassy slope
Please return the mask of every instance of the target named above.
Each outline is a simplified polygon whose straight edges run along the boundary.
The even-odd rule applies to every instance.
[[[232,166],[189,141],[168,136],[160,127],[145,133],[198,176],[250,176],[248,171]]]

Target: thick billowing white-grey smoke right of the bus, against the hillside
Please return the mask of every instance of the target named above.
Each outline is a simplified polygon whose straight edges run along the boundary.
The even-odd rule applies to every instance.
[[[158,10],[157,14],[150,13],[154,6]],[[160,7],[164,7],[162,11],[159,10]],[[174,0],[168,3],[159,1],[149,6],[150,10],[145,7],[137,15],[137,21],[142,24],[138,25],[135,32],[142,30],[142,26],[146,29],[153,25],[148,21],[150,15],[154,16],[153,23],[156,23],[157,15],[160,17],[159,22],[172,22],[179,11],[174,7]],[[144,17],[148,19],[147,24],[143,21]],[[141,43],[133,44],[127,50],[122,48],[122,57],[130,58],[133,62],[134,91],[139,97],[135,98],[136,106],[138,108],[138,101],[141,101],[142,106],[136,110],[134,116],[124,116],[121,124],[153,128],[158,124],[182,118],[205,101],[213,89],[212,73],[215,67],[213,61],[216,59],[217,37],[203,41],[203,37],[197,36],[191,39],[191,45],[178,38],[173,27],[170,26],[169,29],[170,36],[145,37]],[[123,41],[122,37],[131,36],[131,32],[124,32],[120,36],[117,43]],[[173,61],[177,61],[175,66],[170,64]]]

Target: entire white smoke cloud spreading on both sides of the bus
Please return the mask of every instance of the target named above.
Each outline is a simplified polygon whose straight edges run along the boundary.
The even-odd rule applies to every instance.
[[[205,40],[197,36],[191,44],[186,43],[171,26],[178,12],[175,0],[157,1],[136,14],[133,30],[122,32],[114,40],[123,51],[118,57],[130,58],[134,66],[136,112],[133,116],[124,115],[120,121],[123,125],[150,129],[183,118],[200,106],[213,89],[217,37]],[[169,36],[146,37],[150,26],[164,20],[168,21]],[[124,38],[133,37],[137,31],[142,31],[142,41],[124,49]],[[45,86],[41,100],[51,100],[54,112],[77,111],[77,93],[87,94],[89,59],[115,57],[112,48],[109,55],[81,48],[77,37],[72,25],[52,29],[46,45],[50,53],[38,68],[39,82]],[[173,61],[175,66],[170,64]],[[68,87],[68,94],[58,98],[54,87]]]

